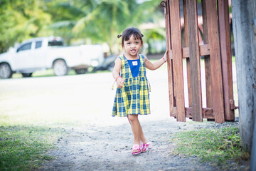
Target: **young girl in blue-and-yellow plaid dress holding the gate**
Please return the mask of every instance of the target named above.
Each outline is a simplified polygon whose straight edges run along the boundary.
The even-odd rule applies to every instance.
[[[112,116],[127,117],[134,135],[132,154],[146,152],[151,142],[144,137],[138,115],[149,115],[149,86],[146,79],[146,68],[155,70],[166,62],[164,57],[151,63],[145,56],[139,54],[143,34],[139,29],[131,27],[118,35],[122,37],[122,48],[125,53],[119,56],[112,71],[117,82],[117,92],[114,98]]]

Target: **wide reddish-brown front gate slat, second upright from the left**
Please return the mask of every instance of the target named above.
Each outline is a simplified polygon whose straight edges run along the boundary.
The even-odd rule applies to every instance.
[[[174,94],[176,99],[177,121],[185,122],[185,103],[183,86],[183,64],[181,46],[181,18],[179,1],[170,0],[171,48],[174,61]]]

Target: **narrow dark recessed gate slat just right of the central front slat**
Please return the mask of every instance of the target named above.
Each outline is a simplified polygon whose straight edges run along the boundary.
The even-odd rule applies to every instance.
[[[203,15],[203,43],[208,44],[208,30],[207,30],[207,15],[206,15],[206,0],[202,0],[202,15]],[[209,49],[210,52],[210,49]],[[211,106],[211,84],[210,84],[210,53],[204,56],[205,75],[206,75],[206,107]]]

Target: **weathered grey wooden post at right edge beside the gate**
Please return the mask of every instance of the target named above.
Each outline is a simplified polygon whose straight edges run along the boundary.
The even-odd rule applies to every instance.
[[[256,43],[252,25],[256,18],[256,0],[233,0],[232,17],[240,135],[242,146],[250,152],[256,115]]]

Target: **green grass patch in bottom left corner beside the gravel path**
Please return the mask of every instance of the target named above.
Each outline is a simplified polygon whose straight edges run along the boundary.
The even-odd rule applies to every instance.
[[[57,128],[42,126],[0,127],[0,170],[33,170],[52,157],[46,151],[61,135]]]

